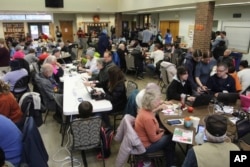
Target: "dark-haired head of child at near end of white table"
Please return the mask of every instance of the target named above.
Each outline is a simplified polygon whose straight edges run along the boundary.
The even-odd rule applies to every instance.
[[[83,101],[78,106],[78,112],[79,112],[78,115],[79,118],[89,118],[93,115],[92,114],[93,106],[90,102]]]

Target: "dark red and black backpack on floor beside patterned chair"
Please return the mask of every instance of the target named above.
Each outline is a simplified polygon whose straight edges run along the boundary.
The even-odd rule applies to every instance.
[[[104,158],[108,158],[111,155],[111,142],[114,137],[114,130],[110,128],[101,127],[101,140]]]

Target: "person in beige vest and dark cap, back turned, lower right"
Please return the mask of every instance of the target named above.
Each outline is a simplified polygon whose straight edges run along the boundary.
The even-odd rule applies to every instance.
[[[224,142],[227,132],[227,118],[222,115],[210,115],[205,119],[205,123],[207,142],[189,149],[182,166],[230,166],[230,151],[239,151],[240,149],[231,142]]]

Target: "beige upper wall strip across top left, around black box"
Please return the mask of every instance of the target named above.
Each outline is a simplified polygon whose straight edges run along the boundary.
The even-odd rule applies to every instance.
[[[45,8],[45,0],[4,0],[2,12],[116,12],[117,0],[64,0],[64,8]]]

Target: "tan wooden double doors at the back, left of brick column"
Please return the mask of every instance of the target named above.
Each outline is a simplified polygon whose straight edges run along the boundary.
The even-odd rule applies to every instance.
[[[179,21],[160,21],[160,31],[163,38],[165,37],[168,28],[172,34],[173,41],[175,41],[176,36],[179,36]]]

